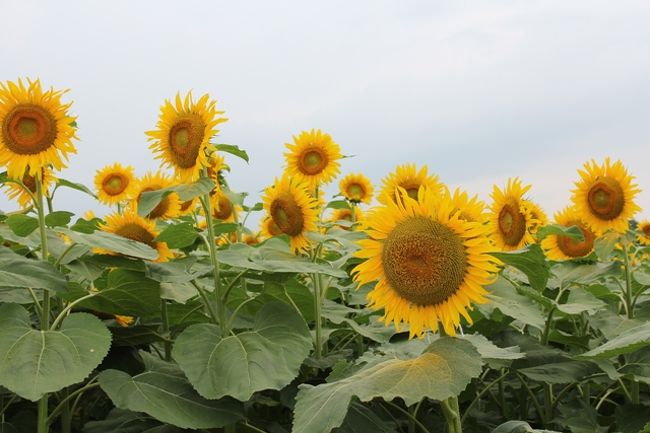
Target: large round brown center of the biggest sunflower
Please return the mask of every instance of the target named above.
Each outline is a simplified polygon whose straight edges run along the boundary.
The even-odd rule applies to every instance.
[[[462,239],[425,217],[409,218],[390,232],[382,263],[390,286],[417,305],[447,300],[462,284],[467,269]]]

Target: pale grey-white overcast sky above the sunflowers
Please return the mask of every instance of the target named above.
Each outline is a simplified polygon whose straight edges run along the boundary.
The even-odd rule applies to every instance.
[[[486,200],[493,183],[520,176],[549,213],[586,160],[621,158],[650,217],[647,1],[0,6],[0,80],[71,89],[81,140],[69,180],[91,185],[113,162],[157,168],[144,131],[165,98],[193,89],[230,119],[217,141],[251,156],[228,158],[235,190],[257,195],[281,174],[284,143],[321,128],[356,155],[344,174],[378,185],[398,163],[426,163]],[[55,207],[100,209],[73,191]]]

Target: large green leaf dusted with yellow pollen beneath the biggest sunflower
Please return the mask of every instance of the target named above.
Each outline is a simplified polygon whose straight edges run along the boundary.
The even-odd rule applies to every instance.
[[[411,406],[423,398],[456,396],[481,373],[481,358],[468,341],[443,337],[414,359],[388,359],[345,379],[301,385],[293,433],[327,433],[343,422],[353,397],[370,401],[402,398]]]

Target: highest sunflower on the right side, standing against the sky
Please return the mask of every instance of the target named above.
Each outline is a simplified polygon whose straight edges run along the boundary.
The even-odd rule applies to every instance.
[[[634,176],[621,161],[612,164],[609,158],[603,165],[591,160],[578,173],[581,180],[575,183],[571,199],[582,219],[597,235],[610,229],[625,232],[628,220],[641,210],[634,203],[634,196],[640,192],[632,183]]]

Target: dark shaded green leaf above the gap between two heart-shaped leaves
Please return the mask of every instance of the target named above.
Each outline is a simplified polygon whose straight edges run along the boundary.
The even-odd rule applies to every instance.
[[[79,306],[109,314],[147,316],[160,309],[159,283],[140,272],[114,269],[97,282],[99,291]],[[86,293],[79,293],[83,296]]]

